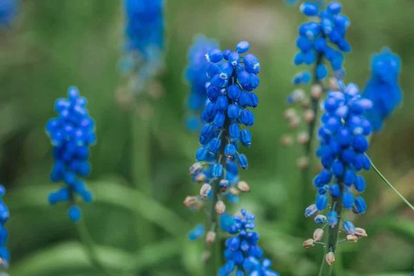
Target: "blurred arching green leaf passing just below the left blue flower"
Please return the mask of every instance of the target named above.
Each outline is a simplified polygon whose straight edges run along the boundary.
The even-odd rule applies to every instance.
[[[95,201],[140,213],[142,217],[171,235],[181,236],[185,230],[191,228],[186,220],[172,210],[142,195],[139,191],[123,185],[119,179],[90,181],[87,186],[94,193]],[[5,198],[6,204],[12,212],[48,206],[48,193],[52,189],[50,184],[16,189],[8,193],[7,199]]]

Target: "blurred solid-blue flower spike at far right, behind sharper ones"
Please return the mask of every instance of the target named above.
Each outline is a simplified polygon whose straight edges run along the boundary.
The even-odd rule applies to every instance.
[[[383,48],[371,57],[371,78],[366,83],[362,95],[373,101],[373,108],[366,112],[373,130],[382,128],[384,120],[402,101],[402,91],[398,83],[400,57]]]

